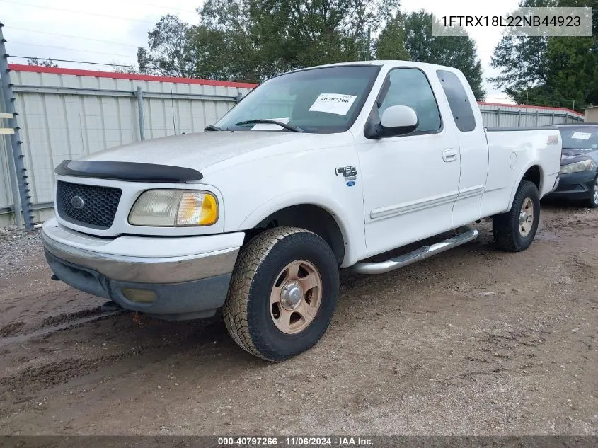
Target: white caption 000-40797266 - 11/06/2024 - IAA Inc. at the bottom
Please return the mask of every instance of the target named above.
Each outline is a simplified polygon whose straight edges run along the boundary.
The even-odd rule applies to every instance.
[[[367,437],[219,437],[219,447],[373,447]]]

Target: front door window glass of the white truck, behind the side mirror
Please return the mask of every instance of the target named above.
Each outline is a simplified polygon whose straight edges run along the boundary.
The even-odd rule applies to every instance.
[[[442,126],[440,111],[430,83],[419,69],[394,69],[390,86],[378,108],[379,116],[391,105],[408,105],[418,114],[420,124],[414,132],[437,132]]]

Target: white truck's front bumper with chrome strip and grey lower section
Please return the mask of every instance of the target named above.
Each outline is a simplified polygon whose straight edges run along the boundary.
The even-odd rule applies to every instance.
[[[48,265],[67,285],[125,309],[183,320],[224,304],[243,232],[210,236],[98,238],[45,222]]]

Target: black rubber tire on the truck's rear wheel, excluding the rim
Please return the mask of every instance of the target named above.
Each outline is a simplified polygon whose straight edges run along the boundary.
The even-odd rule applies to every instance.
[[[527,235],[523,235],[519,226],[519,214],[526,199],[534,205],[533,222]],[[502,214],[497,214],[492,220],[492,233],[496,245],[510,252],[525,251],[534,241],[538,223],[540,222],[540,197],[538,188],[529,180],[522,180],[517,188],[511,209]]]

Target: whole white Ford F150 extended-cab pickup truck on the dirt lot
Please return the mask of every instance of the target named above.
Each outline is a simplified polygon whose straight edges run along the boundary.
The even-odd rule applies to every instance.
[[[205,131],[60,164],[47,262],[151,316],[222,308],[236,343],[270,361],[321,338],[339,268],[401,268],[475,239],[467,224],[485,217],[500,248],[523,251],[560,169],[558,130],[485,129],[461,71],[416,62],[282,74]]]

